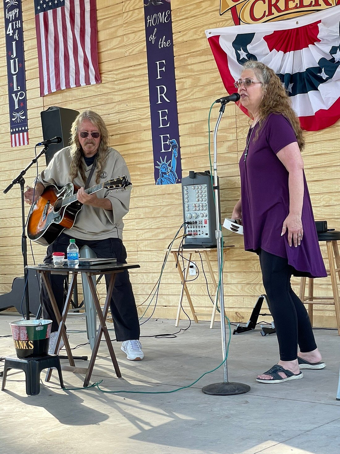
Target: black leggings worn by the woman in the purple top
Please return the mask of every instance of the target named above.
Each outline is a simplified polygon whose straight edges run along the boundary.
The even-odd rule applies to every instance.
[[[263,286],[277,332],[280,359],[296,360],[297,345],[301,352],[307,352],[315,350],[316,343],[306,308],[291,288],[293,268],[285,258],[263,249],[257,253],[260,257]]]

